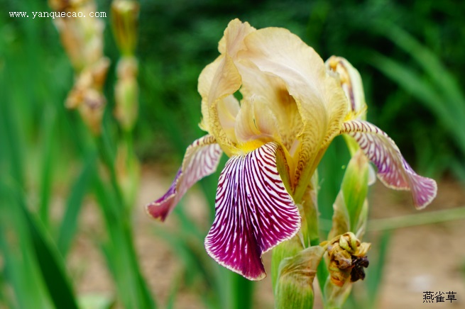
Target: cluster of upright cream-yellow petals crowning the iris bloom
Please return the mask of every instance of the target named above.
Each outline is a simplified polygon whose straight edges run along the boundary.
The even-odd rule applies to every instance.
[[[278,142],[291,161],[298,198],[349,112],[339,75],[282,28],[256,30],[234,20],[218,49],[221,55],[199,77],[201,127],[229,156]]]

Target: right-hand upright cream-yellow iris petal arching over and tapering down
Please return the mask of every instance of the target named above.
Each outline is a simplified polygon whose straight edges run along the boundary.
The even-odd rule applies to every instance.
[[[246,57],[261,71],[283,79],[297,103],[304,128],[295,181],[301,178],[310,181],[319,150],[339,133],[348,110],[339,80],[327,72],[317,52],[288,30],[256,30],[244,42],[247,50],[239,53],[239,57]],[[300,189],[306,186],[306,181],[299,182]]]

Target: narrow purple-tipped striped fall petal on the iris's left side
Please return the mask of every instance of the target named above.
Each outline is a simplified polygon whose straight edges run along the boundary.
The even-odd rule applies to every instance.
[[[221,148],[212,135],[195,140],[187,147],[182,167],[177,171],[170,189],[146,206],[147,213],[164,221],[191,186],[217,170],[221,154]]]

